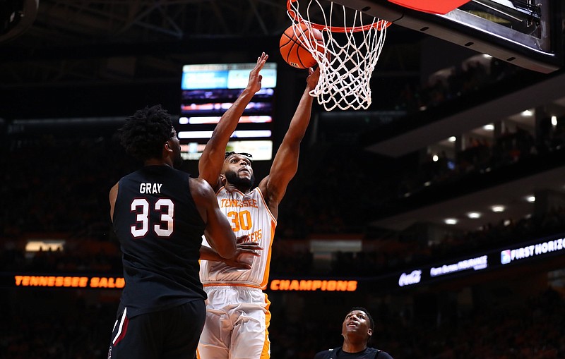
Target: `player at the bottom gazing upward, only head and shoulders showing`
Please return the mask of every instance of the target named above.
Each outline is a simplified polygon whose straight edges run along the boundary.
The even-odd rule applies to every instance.
[[[351,308],[341,324],[343,346],[316,353],[314,359],[393,359],[386,351],[367,347],[374,327],[373,318],[367,309]]]

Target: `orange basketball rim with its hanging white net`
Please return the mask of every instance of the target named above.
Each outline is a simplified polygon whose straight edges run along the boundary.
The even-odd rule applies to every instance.
[[[333,1],[307,1],[302,16],[299,0],[287,0],[287,14],[299,39],[307,39],[303,28],[323,35],[323,47],[301,41],[320,68],[320,80],[310,95],[327,111],[369,108],[369,82],[391,23]]]

